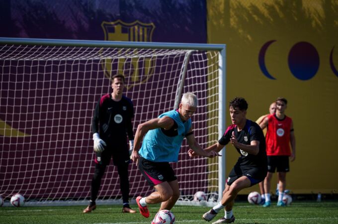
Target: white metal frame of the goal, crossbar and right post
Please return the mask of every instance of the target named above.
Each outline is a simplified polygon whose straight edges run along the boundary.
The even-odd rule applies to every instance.
[[[39,38],[7,38],[0,37],[0,44],[15,44],[15,45],[53,45],[53,46],[72,46],[72,47],[115,47],[115,48],[156,48],[156,49],[182,49],[182,50],[213,50],[218,51],[218,137],[220,138],[225,132],[226,128],[226,45],[225,44],[201,44],[201,43],[169,43],[169,42],[127,42],[127,41],[101,41],[101,40],[67,40],[67,39],[39,39]],[[183,71],[184,75],[184,71]],[[175,105],[179,102],[181,93],[180,87],[177,87],[175,96]],[[177,98],[177,99],[176,99]],[[220,151],[218,163],[218,192],[219,196],[225,189],[226,183],[226,154],[225,148]],[[218,197],[218,201],[221,197]],[[110,200],[108,200],[110,201]],[[54,202],[55,203],[55,202]],[[54,204],[53,203],[53,204]],[[79,204],[80,202],[72,202]],[[106,202],[107,203],[107,202]],[[29,205],[30,203],[26,203]],[[45,204],[45,203],[44,203]],[[49,204],[46,202],[46,204]],[[45,204],[45,205],[46,205]],[[68,203],[62,203],[65,205]],[[80,203],[83,204],[83,203]],[[105,204],[105,203],[101,203]],[[109,203],[114,204],[114,203]],[[191,205],[191,202],[177,201],[177,205]],[[198,205],[205,204],[212,206],[215,203],[199,202]],[[34,206],[36,206],[34,204]]]

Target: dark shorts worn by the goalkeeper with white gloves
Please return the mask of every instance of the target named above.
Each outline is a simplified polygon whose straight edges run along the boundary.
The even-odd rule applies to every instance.
[[[95,163],[102,165],[109,165],[111,158],[113,158],[113,165],[118,166],[125,163],[130,163],[129,150],[127,145],[106,147],[101,152],[101,160],[98,161],[97,153],[95,153]]]

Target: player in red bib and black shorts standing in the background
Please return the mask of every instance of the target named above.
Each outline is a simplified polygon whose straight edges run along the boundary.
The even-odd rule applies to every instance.
[[[282,201],[286,187],[286,173],[289,169],[289,157],[291,162],[296,158],[296,139],[293,130],[292,119],[285,115],[287,100],[277,98],[276,113],[271,114],[263,119],[260,127],[267,127],[266,132],[266,155],[268,173],[264,180],[265,204],[263,207],[269,207],[270,186],[272,174],[277,169],[278,173],[278,202],[277,206],[285,206]],[[290,144],[291,149],[290,150]]]

